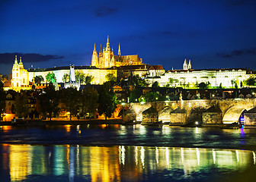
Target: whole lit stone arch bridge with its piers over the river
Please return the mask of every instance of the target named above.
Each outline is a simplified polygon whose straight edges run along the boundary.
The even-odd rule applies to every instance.
[[[232,124],[243,121],[256,125],[256,99],[197,99],[165,102],[136,102],[125,105],[124,121],[171,125],[198,121],[201,124]]]

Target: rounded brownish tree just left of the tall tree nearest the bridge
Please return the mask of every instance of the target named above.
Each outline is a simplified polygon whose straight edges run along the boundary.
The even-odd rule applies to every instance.
[[[81,100],[83,115],[89,113],[89,118],[91,118],[91,115],[93,115],[96,108],[98,108],[98,97],[98,92],[93,87],[83,89]]]

